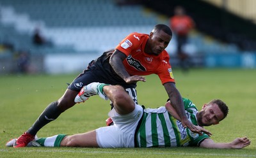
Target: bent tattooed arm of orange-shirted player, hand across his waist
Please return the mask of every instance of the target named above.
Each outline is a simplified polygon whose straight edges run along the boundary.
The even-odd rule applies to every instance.
[[[111,55],[109,64],[115,70],[116,74],[123,78],[126,83],[136,83],[138,81],[145,82],[145,77],[139,75],[131,76],[129,73],[127,73],[123,64],[125,58],[126,55],[119,50],[115,50],[115,52]]]

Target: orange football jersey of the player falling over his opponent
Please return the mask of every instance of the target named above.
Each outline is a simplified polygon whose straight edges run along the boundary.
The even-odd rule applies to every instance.
[[[125,69],[130,75],[159,76],[162,84],[175,82],[169,55],[164,50],[159,55],[150,55],[144,52],[148,34],[131,33],[126,36],[116,47],[117,50],[127,55],[123,61]]]

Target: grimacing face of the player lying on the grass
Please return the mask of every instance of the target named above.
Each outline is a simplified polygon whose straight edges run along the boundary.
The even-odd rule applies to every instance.
[[[224,118],[223,112],[220,110],[218,104],[204,104],[203,109],[197,114],[199,126],[211,126],[218,124]]]

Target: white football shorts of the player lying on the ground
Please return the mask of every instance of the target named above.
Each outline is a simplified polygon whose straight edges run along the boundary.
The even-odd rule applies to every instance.
[[[143,108],[135,104],[135,109],[127,115],[119,115],[113,108],[108,113],[113,126],[96,129],[100,148],[134,148],[134,133],[143,115]]]

